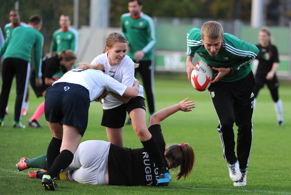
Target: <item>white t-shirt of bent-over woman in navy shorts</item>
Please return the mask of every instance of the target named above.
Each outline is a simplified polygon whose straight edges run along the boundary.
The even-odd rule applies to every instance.
[[[73,69],[64,74],[55,83],[66,82],[82,85],[89,91],[90,101],[98,98],[104,89],[123,95],[127,86],[104,74],[102,71],[88,69]]]

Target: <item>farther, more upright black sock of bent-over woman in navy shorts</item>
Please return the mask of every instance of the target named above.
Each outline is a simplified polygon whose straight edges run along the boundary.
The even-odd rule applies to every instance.
[[[47,152],[46,152],[47,170],[49,170],[50,167],[52,166],[53,161],[56,158],[56,156],[60,154],[61,146],[62,146],[62,140],[56,139],[56,138],[51,139],[47,148]]]

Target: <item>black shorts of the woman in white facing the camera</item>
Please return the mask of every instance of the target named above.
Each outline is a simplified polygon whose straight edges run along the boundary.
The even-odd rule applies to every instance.
[[[110,128],[121,128],[124,126],[126,112],[129,114],[136,108],[146,110],[144,98],[141,96],[130,99],[127,104],[122,104],[116,108],[103,110],[101,125]]]

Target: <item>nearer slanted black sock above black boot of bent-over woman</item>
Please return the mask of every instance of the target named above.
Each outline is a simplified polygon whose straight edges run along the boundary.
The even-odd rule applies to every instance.
[[[69,150],[63,150],[54,160],[46,175],[56,177],[62,170],[66,169],[73,161],[74,154]]]

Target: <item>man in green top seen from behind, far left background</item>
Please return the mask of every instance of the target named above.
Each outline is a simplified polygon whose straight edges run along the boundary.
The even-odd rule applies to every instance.
[[[4,124],[5,108],[8,103],[12,80],[16,77],[16,101],[14,108],[14,127],[24,128],[21,124],[21,110],[26,95],[26,88],[30,78],[31,55],[34,49],[34,61],[36,69],[36,85],[42,84],[41,80],[41,55],[43,47],[43,35],[39,32],[42,19],[38,15],[30,18],[28,27],[15,28],[5,40],[0,49],[0,56],[4,53],[2,70],[2,89],[0,95],[0,126]]]

